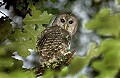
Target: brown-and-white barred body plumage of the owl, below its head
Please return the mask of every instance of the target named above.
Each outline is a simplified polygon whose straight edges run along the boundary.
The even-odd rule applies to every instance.
[[[70,34],[59,26],[45,29],[37,40],[40,61],[46,62],[65,55],[70,46]]]

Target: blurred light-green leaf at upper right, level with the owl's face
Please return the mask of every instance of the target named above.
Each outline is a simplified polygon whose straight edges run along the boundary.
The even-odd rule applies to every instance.
[[[102,9],[93,20],[86,24],[87,29],[96,30],[99,35],[120,37],[120,13],[112,14],[108,9]]]

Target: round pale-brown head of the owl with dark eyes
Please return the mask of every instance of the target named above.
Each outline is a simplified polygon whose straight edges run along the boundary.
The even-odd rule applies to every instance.
[[[67,30],[70,35],[74,35],[77,30],[78,19],[73,14],[61,13],[56,17],[52,26],[60,26],[61,28]]]

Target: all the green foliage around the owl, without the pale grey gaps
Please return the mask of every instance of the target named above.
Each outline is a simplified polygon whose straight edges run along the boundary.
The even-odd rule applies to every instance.
[[[50,0],[53,4],[57,0]],[[0,78],[35,78],[34,69],[23,69],[22,61],[11,56],[18,52],[23,57],[29,55],[28,49],[36,51],[36,37],[50,23],[54,15],[61,9],[46,7],[47,0],[3,0],[6,9],[14,7],[15,16],[23,18],[22,23],[15,23],[10,17],[0,18]],[[10,3],[12,2],[12,3]],[[74,0],[67,1],[64,6],[69,12],[69,6]],[[109,0],[103,0],[109,2]],[[118,0],[120,2],[120,0]],[[101,38],[97,45],[91,46],[85,56],[75,56],[68,67],[61,71],[47,70],[43,78],[71,77],[71,78],[119,78],[120,77],[120,13],[114,13],[109,8],[100,9],[100,2],[92,1],[96,7],[95,15],[85,24],[85,28],[92,30]],[[13,26],[13,24],[15,26]],[[90,70],[82,73],[88,68]]]

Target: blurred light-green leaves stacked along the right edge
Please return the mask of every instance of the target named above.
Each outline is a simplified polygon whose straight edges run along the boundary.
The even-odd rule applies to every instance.
[[[87,29],[95,30],[104,36],[97,52],[102,56],[91,66],[98,73],[97,78],[115,78],[120,71],[120,13],[113,14],[102,9],[93,20],[86,24]],[[110,37],[108,37],[110,35]]]

